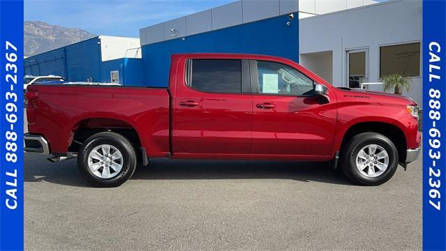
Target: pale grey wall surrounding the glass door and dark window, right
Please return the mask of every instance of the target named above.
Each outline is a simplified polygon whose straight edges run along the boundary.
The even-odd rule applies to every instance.
[[[368,82],[380,82],[380,45],[421,40],[422,1],[388,1],[299,21],[299,53],[332,51],[332,83],[335,86],[346,86],[346,51],[367,48]],[[382,90],[381,86],[376,88]],[[413,98],[422,107],[422,78],[413,77],[413,90],[403,95]]]

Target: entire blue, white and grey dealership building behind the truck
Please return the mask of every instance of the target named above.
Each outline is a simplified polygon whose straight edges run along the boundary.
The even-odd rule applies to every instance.
[[[382,91],[382,77],[399,73],[413,82],[403,95],[422,105],[422,1],[241,0],[139,34],[139,40],[119,38],[128,43],[99,36],[31,56],[25,72],[167,86],[171,54],[269,54],[296,61],[334,86]]]

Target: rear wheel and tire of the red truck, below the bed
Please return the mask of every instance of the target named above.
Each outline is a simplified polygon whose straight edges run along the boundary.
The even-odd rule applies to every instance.
[[[92,185],[114,188],[133,175],[137,155],[132,144],[122,135],[100,132],[82,144],[77,154],[77,167]]]

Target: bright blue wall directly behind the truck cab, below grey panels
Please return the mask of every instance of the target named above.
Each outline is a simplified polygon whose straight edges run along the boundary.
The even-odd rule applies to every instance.
[[[286,22],[291,25],[287,26]],[[219,52],[282,56],[299,60],[298,18],[288,15],[177,38],[142,47],[144,85],[167,86],[170,56],[176,53]]]

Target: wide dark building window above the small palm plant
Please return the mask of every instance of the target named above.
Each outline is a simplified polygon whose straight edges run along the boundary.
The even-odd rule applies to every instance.
[[[420,76],[420,43],[380,47],[380,78],[390,74]]]

